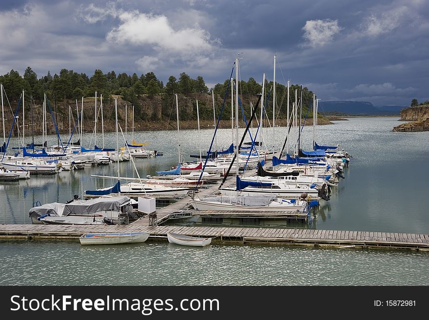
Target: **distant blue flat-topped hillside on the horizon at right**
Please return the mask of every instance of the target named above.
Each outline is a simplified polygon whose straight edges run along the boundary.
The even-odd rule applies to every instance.
[[[366,101],[320,101],[318,111],[325,115],[387,116],[399,115],[405,107],[397,105],[374,106]]]

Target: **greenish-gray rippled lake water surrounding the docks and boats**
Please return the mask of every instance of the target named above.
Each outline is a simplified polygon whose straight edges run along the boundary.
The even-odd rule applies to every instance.
[[[318,144],[339,143],[353,158],[345,169],[345,179],[333,188],[331,200],[321,202],[311,224],[298,226],[428,234],[428,133],[391,132],[401,123],[396,117],[348,119],[317,128]],[[275,128],[274,143],[281,146],[285,133],[286,128]],[[266,144],[272,145],[272,130],[266,129],[263,134]],[[310,150],[312,127],[304,127],[301,135],[301,147]],[[296,130],[291,136],[296,140]],[[148,148],[164,152],[163,157],[135,161],[140,177],[176,165],[178,142],[181,154],[190,160],[190,154],[199,153],[199,141],[204,154],[212,137],[213,130],[202,130],[200,139],[197,130],[182,130],[179,136],[176,131],[136,132],[135,140],[150,142]],[[48,144],[57,142],[55,136],[48,138]],[[94,141],[85,136],[84,146],[93,145],[91,139]],[[116,147],[116,134],[106,134],[104,139],[106,147]],[[120,141],[122,145],[123,139]],[[217,148],[227,148],[231,142],[231,130],[219,130]],[[97,144],[101,144],[100,136]],[[131,161],[119,163],[119,174],[137,177]],[[114,182],[90,175],[117,176],[117,164],[32,175],[29,180],[0,184],[2,223],[31,223],[28,211],[35,201],[65,202],[75,193],[82,195],[84,190]],[[297,225],[281,227],[292,226]],[[206,248],[188,248],[158,241],[86,248],[76,241],[41,240],[1,240],[0,251],[1,270],[7,271],[0,275],[0,285],[429,284],[429,254],[424,252],[215,243]],[[87,269],[89,260],[91,272]]]

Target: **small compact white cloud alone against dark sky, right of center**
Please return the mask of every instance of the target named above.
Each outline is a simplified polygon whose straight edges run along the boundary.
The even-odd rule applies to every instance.
[[[333,37],[339,33],[342,28],[338,25],[338,20],[307,20],[304,30],[304,39],[307,44],[315,46],[323,46],[332,41]]]

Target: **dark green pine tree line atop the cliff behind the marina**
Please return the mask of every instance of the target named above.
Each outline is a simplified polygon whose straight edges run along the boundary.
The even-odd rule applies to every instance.
[[[170,109],[172,106],[172,94],[192,95],[192,94],[211,94],[211,90],[214,90],[216,95],[216,107],[219,106],[219,101],[231,100],[231,85],[230,80],[225,80],[223,83],[217,83],[213,89],[206,86],[202,76],[197,76],[196,79],[192,79],[185,72],[180,73],[179,78],[170,76],[168,81],[157,79],[154,72],[147,72],[137,76],[136,73],[128,75],[127,73],[117,74],[115,71],[109,71],[106,74],[101,70],[97,69],[94,71],[92,76],[88,76],[85,73],[78,73],[73,70],[61,69],[59,74],[51,75],[50,71],[45,76],[38,77],[36,72],[31,67],[27,67],[23,76],[16,70],[11,70],[5,75],[0,76],[0,82],[6,90],[8,99],[10,102],[18,101],[22,90],[25,90],[26,97],[32,96],[36,103],[41,104],[43,101],[44,94],[46,93],[49,100],[65,101],[65,100],[80,100],[81,97],[94,97],[97,91],[98,96],[103,95],[103,101],[109,104],[111,95],[122,96],[122,99],[135,105],[137,110],[141,113],[141,102],[144,95],[147,96],[159,96],[163,98],[163,104],[165,107],[162,108],[161,119],[170,117]],[[235,85],[234,85],[235,87]],[[276,82],[276,119],[286,119],[286,105],[287,105],[287,86]],[[246,117],[250,116],[249,104],[257,100],[257,95],[262,91],[262,85],[254,78],[249,80],[239,81],[239,95],[243,101],[243,109]],[[292,102],[295,101],[295,93],[297,99],[301,97],[301,85],[292,84],[290,87],[290,109],[292,110]],[[169,97],[169,98],[167,98]],[[313,92],[307,87],[302,88],[303,97],[303,118],[307,114],[308,117],[312,117],[312,112],[307,113],[307,109],[312,105]],[[26,100],[26,105],[28,105]],[[209,99],[207,99],[209,101]],[[202,102],[202,101],[201,101]],[[192,119],[196,119],[195,103],[194,111],[188,113],[187,116]],[[273,81],[266,80],[265,83],[265,97],[264,105],[266,107],[266,115],[270,118],[273,116]],[[246,106],[246,107],[245,107]],[[206,116],[203,118],[210,117],[210,109],[213,105],[209,102],[203,102],[200,104],[200,112],[202,111]],[[231,115],[231,103],[226,105],[225,112],[222,114],[222,119],[230,119]],[[213,111],[212,111],[213,112]],[[213,114],[212,114],[213,115]],[[298,114],[299,115],[299,114]],[[148,120],[145,115],[137,115],[142,120]],[[157,119],[155,114],[151,120]]]

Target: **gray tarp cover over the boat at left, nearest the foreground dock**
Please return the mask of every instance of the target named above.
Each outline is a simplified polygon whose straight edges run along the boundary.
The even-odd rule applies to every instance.
[[[130,198],[126,196],[97,198],[91,200],[77,200],[68,204],[58,202],[46,203],[39,207],[31,208],[30,218],[38,218],[45,214],[68,216],[70,214],[93,214],[98,211],[119,211],[121,206],[128,203],[130,203]]]

